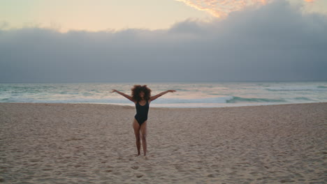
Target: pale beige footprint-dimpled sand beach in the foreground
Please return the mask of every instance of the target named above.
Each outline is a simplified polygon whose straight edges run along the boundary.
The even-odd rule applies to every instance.
[[[150,107],[148,160],[135,112],[0,103],[0,182],[326,183],[327,103]]]

